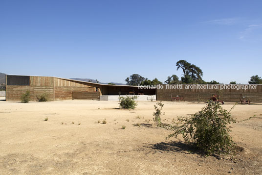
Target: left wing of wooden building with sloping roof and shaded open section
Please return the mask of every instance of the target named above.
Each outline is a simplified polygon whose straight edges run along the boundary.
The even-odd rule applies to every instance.
[[[22,94],[30,91],[30,100],[46,93],[48,100],[90,99],[100,95],[155,95],[155,89],[138,89],[138,86],[105,85],[53,76],[6,75],[6,100],[20,101]]]

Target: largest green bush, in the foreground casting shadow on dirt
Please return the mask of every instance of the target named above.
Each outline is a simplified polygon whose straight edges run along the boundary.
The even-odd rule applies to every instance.
[[[234,107],[234,106],[233,106]],[[223,109],[220,104],[209,101],[208,104],[190,117],[178,117],[174,125],[161,125],[172,131],[168,137],[177,137],[182,134],[184,140],[193,143],[205,154],[227,154],[234,150],[235,143],[229,135],[227,124],[236,121],[230,111]]]

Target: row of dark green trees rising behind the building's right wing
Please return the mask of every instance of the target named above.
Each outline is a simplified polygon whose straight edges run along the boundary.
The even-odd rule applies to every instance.
[[[187,62],[186,60],[179,60],[175,64],[176,70],[181,69],[183,75],[180,77],[177,75],[171,75],[167,77],[167,80],[164,81],[166,84],[221,84],[216,80],[210,82],[204,81],[202,79],[203,71],[194,64]],[[130,75],[125,80],[127,85],[133,86],[145,86],[145,85],[156,85],[162,84],[157,78],[150,80],[138,74]],[[262,78],[259,75],[251,76],[248,81],[249,84],[262,84]],[[236,81],[231,81],[230,84],[237,84]]]

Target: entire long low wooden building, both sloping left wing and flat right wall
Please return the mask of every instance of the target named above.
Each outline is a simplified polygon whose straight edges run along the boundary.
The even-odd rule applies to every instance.
[[[138,86],[99,84],[52,76],[6,75],[6,100],[20,101],[22,94],[28,90],[31,101],[36,101],[37,97],[44,93],[48,95],[48,100],[98,100],[101,95],[129,95],[132,93],[134,95],[156,95],[156,100],[163,101],[171,101],[172,97],[176,96],[183,97],[185,101],[207,101],[213,95],[218,94],[220,86],[231,85],[217,85],[217,89],[186,88],[186,86],[191,86],[190,84],[180,84],[180,88],[175,88],[176,84],[169,86],[167,88],[166,84],[162,84],[155,89],[139,89]],[[262,102],[262,85],[254,86],[256,86],[255,89],[222,89],[220,98],[224,101],[237,102],[245,97],[251,102]]]

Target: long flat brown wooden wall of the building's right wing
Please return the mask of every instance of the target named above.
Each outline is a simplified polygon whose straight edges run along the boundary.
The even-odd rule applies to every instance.
[[[214,94],[218,94],[218,89],[185,89],[185,84],[182,85],[181,89],[167,89],[166,85],[163,84],[163,89],[156,89],[156,100],[171,101],[172,97],[184,97],[186,101],[207,101]],[[257,85],[256,89],[222,89],[221,100],[238,102],[241,97],[250,99],[251,102],[262,102],[262,85]]]

